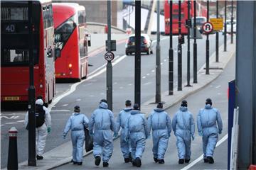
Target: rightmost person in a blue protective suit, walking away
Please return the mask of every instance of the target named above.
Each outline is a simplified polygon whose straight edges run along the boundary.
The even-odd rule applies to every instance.
[[[220,112],[212,104],[212,100],[207,98],[205,108],[201,108],[197,117],[198,134],[203,139],[203,161],[209,164],[214,163],[213,152],[218,142],[218,134],[223,130]]]

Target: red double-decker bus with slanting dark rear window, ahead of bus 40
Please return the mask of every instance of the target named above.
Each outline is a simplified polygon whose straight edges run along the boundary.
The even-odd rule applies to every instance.
[[[85,7],[53,3],[53,18],[55,47],[61,50],[55,61],[55,78],[80,81],[88,74]]]

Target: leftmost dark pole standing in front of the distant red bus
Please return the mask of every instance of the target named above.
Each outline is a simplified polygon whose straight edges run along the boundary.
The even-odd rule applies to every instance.
[[[173,21],[173,4],[170,1],[170,48],[169,48],[169,95],[174,94],[174,49],[173,49],[173,37],[172,37],[172,21]]]

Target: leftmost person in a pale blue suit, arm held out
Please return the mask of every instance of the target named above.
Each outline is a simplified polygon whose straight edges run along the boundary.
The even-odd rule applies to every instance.
[[[80,106],[74,107],[74,113],[68,119],[65,129],[63,131],[63,138],[65,139],[68,131],[71,130],[71,141],[73,145],[73,164],[82,165],[83,144],[85,141],[85,131],[89,123],[86,115],[80,113]]]

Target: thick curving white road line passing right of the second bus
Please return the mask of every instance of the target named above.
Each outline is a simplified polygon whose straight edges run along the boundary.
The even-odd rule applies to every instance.
[[[116,62],[112,63],[112,66],[114,66],[115,64],[117,64],[117,63],[121,62],[122,60],[124,60],[125,57],[127,57],[127,56],[126,56],[126,55],[123,55],[123,56],[121,56],[121,57],[118,57],[118,58],[115,60]],[[62,98],[64,98],[65,96],[68,96],[68,95],[72,94],[72,93],[75,91],[76,87],[77,87],[79,84],[82,84],[82,83],[85,82],[85,81],[89,81],[89,80],[91,80],[91,79],[93,79],[93,78],[99,76],[100,74],[102,74],[102,73],[104,73],[104,72],[106,72],[106,68],[103,68],[103,69],[99,70],[99,72],[96,72],[95,74],[92,74],[92,75],[91,75],[90,77],[88,77],[87,79],[84,79],[84,80],[82,80],[82,81],[80,81],[80,82],[77,82],[77,83],[73,84],[73,85],[70,87],[70,89],[69,89],[67,92],[65,92],[65,94],[61,94],[60,96],[58,96],[58,97],[56,97],[56,98],[53,99],[53,102],[50,103],[50,105],[49,105],[49,107],[48,107],[49,110],[51,110],[51,108],[53,108],[53,106],[55,106],[55,104],[57,104]],[[96,80],[95,80],[95,81],[96,81]]]

